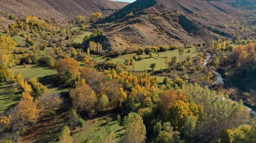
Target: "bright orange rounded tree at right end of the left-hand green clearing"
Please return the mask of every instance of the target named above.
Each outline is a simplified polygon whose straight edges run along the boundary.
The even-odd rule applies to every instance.
[[[72,73],[77,73],[79,70],[80,64],[75,59],[69,57],[62,59],[56,66],[57,72],[59,74],[64,74],[67,69],[70,69]]]

